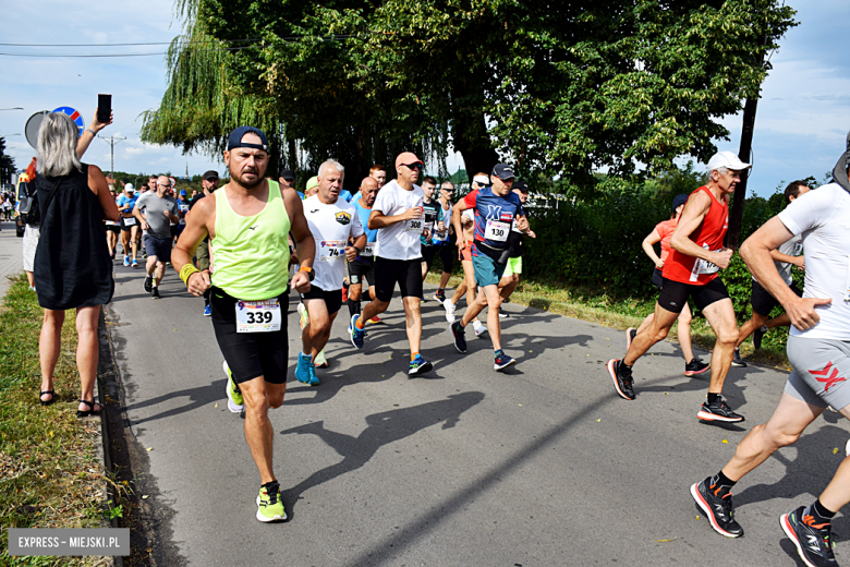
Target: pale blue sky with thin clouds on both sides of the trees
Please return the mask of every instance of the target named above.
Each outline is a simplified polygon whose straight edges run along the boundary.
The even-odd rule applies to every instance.
[[[823,179],[843,149],[850,130],[850,60],[847,58],[846,25],[850,21],[847,0],[796,0],[800,25],[780,41],[770,59],[774,69],[763,85],[753,141],[754,169],[750,190],[765,195],[782,181],[814,176]],[[90,0],[85,10],[76,2],[36,0],[3,10],[2,43],[107,44],[170,41],[180,32],[171,0],[113,2]],[[2,52],[28,53],[149,53],[167,46],[131,47],[7,47]],[[161,55],[116,59],[22,58],[0,56],[3,86],[0,135],[7,136],[8,153],[25,167],[34,150],[23,135],[26,119],[39,110],[71,106],[86,123],[97,106],[98,93],[112,94],[114,124],[104,135],[127,137],[116,145],[116,169],[121,171],[171,171],[190,174],[220,162],[205,155],[182,155],[179,148],[153,146],[138,140],[139,113],[154,109],[166,87]],[[730,141],[718,141],[718,149],[738,150],[741,117],[724,119]],[[109,145],[96,140],[86,160],[109,169]],[[449,170],[460,164],[449,159]]]

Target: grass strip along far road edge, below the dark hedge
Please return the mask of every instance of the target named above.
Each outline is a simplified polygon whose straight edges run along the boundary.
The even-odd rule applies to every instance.
[[[449,287],[454,288],[461,282],[461,277],[453,275]],[[439,285],[439,274],[428,274],[428,284]],[[646,298],[614,299],[604,290],[570,288],[563,285],[541,284],[520,279],[520,285],[511,294],[511,303],[535,307],[542,311],[566,315],[606,327],[626,330],[639,327],[644,317],[653,312],[657,295]],[[460,304],[465,305],[465,302]],[[739,325],[743,323],[738,322]],[[676,337],[678,325],[673,325],[668,340]],[[784,337],[787,330],[773,330],[765,335],[762,348],[753,350],[750,339],[741,345],[741,357],[746,361],[769,364],[779,370],[791,370],[785,352]],[[691,323],[691,341],[694,346],[711,351],[714,348],[715,335],[705,317],[694,317]]]

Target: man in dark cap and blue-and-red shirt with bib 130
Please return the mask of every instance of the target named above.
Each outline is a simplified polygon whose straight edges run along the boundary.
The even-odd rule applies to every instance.
[[[490,173],[491,185],[473,191],[460,201],[451,214],[451,224],[458,234],[458,248],[465,245],[461,229],[461,214],[467,208],[475,210],[475,233],[472,242],[472,264],[475,268],[475,282],[478,297],[466,307],[463,318],[451,324],[454,348],[466,352],[464,327],[484,310],[487,310],[487,329],[493,339],[495,357],[494,369],[503,370],[517,361],[501,350],[501,327],[499,326],[499,280],[510,255],[508,237],[511,228],[529,233],[529,219],[522,208],[520,197],[511,192],[513,170],[507,164],[497,164]]]

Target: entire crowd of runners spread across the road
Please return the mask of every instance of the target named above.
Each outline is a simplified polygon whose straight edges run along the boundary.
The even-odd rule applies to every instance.
[[[433,299],[445,307],[451,342],[465,352],[465,329],[472,324],[476,336],[491,341],[494,369],[501,371],[517,361],[502,350],[500,318],[507,313],[500,305],[519,282],[523,239],[535,238],[523,208],[529,188],[509,165],[497,164],[476,173],[470,193],[456,201],[450,181],[421,177],[423,161],[405,152],[396,158],[394,179],[388,181],[387,168],[376,165],[354,195],[342,189],[344,167],[328,159],[302,193],[292,171],[281,171],[278,181],[267,177],[268,141],[252,126],[230,134],[224,161],[230,181],[219,189],[218,173],[208,171],[203,193],[191,202],[185,192],[173,195],[168,177],[151,177],[141,195],[125,185],[117,197],[121,218],[110,227],[110,253],[114,257],[120,234],[124,265],[138,266],[144,233],[145,290],[158,297],[166,266],[173,263],[189,291],[205,299],[204,314],[211,317],[224,359],[228,408],[244,411],[245,436],[260,474],[256,517],[284,520],[268,410],[282,405],[286,390],[290,290],[300,295],[299,382],[320,384],[316,369],[327,366],[325,348],[343,304],[351,343],[362,349],[367,325],[382,323],[397,289],[410,347],[408,373],[420,376],[434,367],[421,352],[421,304],[426,301],[423,281],[439,257],[442,269]],[[753,276],[753,315],[740,328],[720,274],[733,254],[724,244],[729,197],[750,164],[731,152],[714,155],[706,184],[677,195],[671,217],[643,241],[659,294],[654,313],[627,330],[626,353],[607,364],[621,398],[636,398],[634,364],[678,322],[684,375],[711,372],[697,419],[742,422],[721,396],[730,366],[745,365],[739,346],[753,336],[758,348],[768,329],[791,327],[788,357],[794,371],[776,412],[753,427],[717,474],[691,487],[722,535],[743,534],[732,512],[736,482],[796,442],[827,407],[850,418],[848,165],[850,150],[836,166],[834,182],[816,191],[802,181],[790,183],[785,209],[741,248]],[[660,255],[654,248],[658,243]],[[464,277],[447,297],[456,257]],[[804,290],[793,284],[794,268],[805,269]],[[466,309],[459,316],[464,295]],[[707,363],[691,348],[689,299],[717,336]],[[786,312],[769,318],[777,305]],[[478,319],[485,307],[486,326]],[[848,502],[850,457],[817,500],[780,518],[806,565],[836,565],[830,518]]]

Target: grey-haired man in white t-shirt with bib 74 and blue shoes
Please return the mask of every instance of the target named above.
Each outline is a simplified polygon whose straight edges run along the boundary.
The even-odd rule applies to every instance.
[[[301,333],[303,349],[299,354],[295,378],[318,386],[315,360],[330,338],[330,328],[342,306],[342,278],[345,262],[353,262],[366,248],[366,233],[354,205],[340,198],[345,170],[339,161],[328,159],[319,166],[318,193],[304,200],[304,216],[316,241],[313,269],[316,277],[309,291],[301,294],[308,322]],[[349,238],[354,244],[349,245]]]

